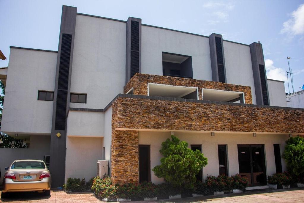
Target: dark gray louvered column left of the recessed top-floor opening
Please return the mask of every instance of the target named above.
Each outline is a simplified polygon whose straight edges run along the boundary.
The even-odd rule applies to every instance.
[[[126,23],[126,84],[134,72],[141,73],[141,19],[129,17]]]

